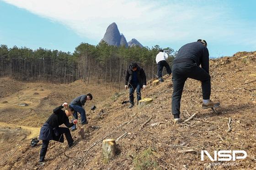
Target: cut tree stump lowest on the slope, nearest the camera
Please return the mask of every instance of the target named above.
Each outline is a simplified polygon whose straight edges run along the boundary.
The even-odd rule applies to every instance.
[[[115,139],[105,139],[102,141],[103,157],[107,163],[112,160],[117,154],[116,141]]]

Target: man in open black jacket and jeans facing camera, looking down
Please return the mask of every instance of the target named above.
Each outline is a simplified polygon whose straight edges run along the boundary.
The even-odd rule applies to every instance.
[[[129,88],[129,102],[130,105],[128,108],[134,106],[134,97],[133,93],[136,89],[137,92],[137,104],[141,100],[141,88],[146,88],[146,74],[143,68],[139,67],[137,63],[131,63],[126,71],[125,76],[125,86],[126,89]]]

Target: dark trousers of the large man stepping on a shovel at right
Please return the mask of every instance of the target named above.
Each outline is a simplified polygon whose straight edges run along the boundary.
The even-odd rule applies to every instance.
[[[171,112],[174,118],[180,117],[181,95],[187,78],[202,82],[203,99],[210,99],[211,76],[196,63],[180,62],[172,66],[173,93],[171,99]]]

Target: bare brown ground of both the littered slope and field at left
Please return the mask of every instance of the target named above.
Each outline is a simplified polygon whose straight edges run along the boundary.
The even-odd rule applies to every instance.
[[[188,79],[181,99],[181,118],[186,120],[194,113],[196,115],[182,124],[172,122],[171,76],[165,77],[165,82],[157,86],[151,83],[142,92],[142,98],[153,98],[152,103],[131,109],[127,108],[128,103],[122,104],[128,100],[128,91],[115,93],[115,90],[83,85],[80,81],[61,85],[17,82],[20,88],[13,93],[9,90],[11,87],[6,92],[1,88],[1,95],[5,97],[0,98],[0,118],[5,124],[0,127],[0,135],[8,124],[39,128],[53,108],[81,93],[91,92],[95,98],[91,103],[86,102],[89,118],[89,124],[84,126],[86,139],[80,139],[77,131],[71,132],[76,143],[71,149],[68,149],[66,141],[63,144],[51,141],[45,165],[39,166],[42,142],[33,148],[29,146],[31,140],[27,136],[22,137],[23,131],[29,130],[21,126],[21,133],[13,132],[20,135],[17,139],[7,139],[16,141],[3,141],[2,146],[5,147],[0,149],[0,167],[3,170],[256,169],[256,81],[250,82],[256,80],[256,52],[239,52],[234,57],[210,60],[210,74],[211,99],[221,103],[217,108],[219,113],[202,109],[201,84]],[[14,82],[8,78],[4,81]],[[17,106],[24,98],[27,103],[32,101],[31,105]],[[10,104],[15,106],[10,108]],[[96,110],[90,110],[93,104]],[[226,131],[229,118],[231,132]],[[8,134],[8,131],[5,133]],[[101,140],[117,139],[124,133],[127,135],[116,142],[117,156],[106,162],[102,156]],[[245,150],[247,157],[229,162],[211,162],[205,155],[206,159],[202,161],[201,150],[207,150],[212,156],[214,150]]]

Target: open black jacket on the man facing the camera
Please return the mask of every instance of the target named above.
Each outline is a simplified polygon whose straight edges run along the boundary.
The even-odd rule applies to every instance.
[[[142,86],[147,84],[147,77],[146,74],[143,70],[143,68],[140,68],[138,64],[137,65],[137,77],[139,80],[139,85]],[[127,71],[126,71],[126,75],[125,75],[125,85],[128,85],[128,87],[131,86],[131,80],[132,80],[132,76],[133,76],[133,70],[132,70],[132,63],[129,65]]]

